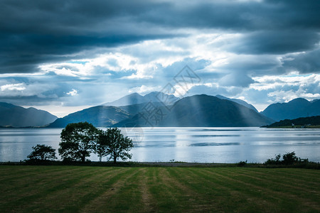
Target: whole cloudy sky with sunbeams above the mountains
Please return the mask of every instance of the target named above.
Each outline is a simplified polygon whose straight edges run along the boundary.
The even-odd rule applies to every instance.
[[[65,116],[172,86],[320,99],[320,1],[0,1],[0,102]],[[198,81],[181,88],[190,69]]]

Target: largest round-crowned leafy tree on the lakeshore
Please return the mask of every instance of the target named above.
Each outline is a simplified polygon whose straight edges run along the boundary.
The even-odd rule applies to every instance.
[[[68,124],[61,131],[58,149],[63,160],[81,160],[90,156],[93,145],[97,140],[98,130],[92,124],[79,122]]]

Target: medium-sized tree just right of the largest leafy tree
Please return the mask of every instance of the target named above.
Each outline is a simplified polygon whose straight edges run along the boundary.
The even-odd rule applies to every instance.
[[[134,147],[132,139],[127,136],[124,137],[120,129],[117,129],[117,127],[107,129],[105,137],[102,139],[105,140],[103,143],[106,144],[107,155],[110,155],[109,159],[113,159],[113,163],[117,163],[117,158],[131,159],[132,155],[129,154],[129,151]]]

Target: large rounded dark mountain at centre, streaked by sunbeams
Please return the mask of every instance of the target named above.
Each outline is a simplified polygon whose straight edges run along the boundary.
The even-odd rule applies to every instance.
[[[241,104],[206,94],[185,97],[172,108],[160,107],[156,111],[154,116],[142,111],[114,126],[262,126],[272,123],[271,119]]]

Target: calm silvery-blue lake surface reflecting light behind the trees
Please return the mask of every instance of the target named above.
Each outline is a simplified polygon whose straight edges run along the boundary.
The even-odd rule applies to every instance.
[[[0,129],[0,161],[24,160],[38,143],[58,153],[61,130]],[[132,161],[263,163],[295,151],[300,158],[320,162],[319,129],[132,128],[122,133],[134,141]],[[92,153],[90,160],[99,159]]]

